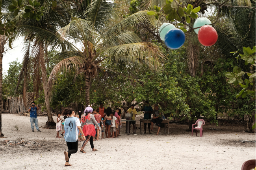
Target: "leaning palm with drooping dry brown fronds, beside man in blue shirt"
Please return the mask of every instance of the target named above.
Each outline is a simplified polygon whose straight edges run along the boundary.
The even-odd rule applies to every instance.
[[[60,47],[63,49],[72,48],[65,39],[61,38],[61,35],[57,32],[57,27],[65,26],[69,22],[67,16],[69,13],[65,11],[63,5],[59,4],[58,7],[52,9],[47,3],[42,3],[45,6],[45,15],[43,15],[40,21],[24,19],[23,13],[20,12],[13,20],[17,21],[18,36],[25,38],[25,54],[23,58],[23,66],[20,71],[17,88],[22,79],[23,84],[23,99],[26,103],[26,85],[28,84],[27,76],[33,74],[33,90],[36,92],[36,96],[39,96],[39,89],[45,93],[45,106],[48,115],[48,121],[45,127],[55,128],[56,123],[52,118],[52,112],[50,108],[50,100],[47,95],[47,75],[46,75],[46,62],[45,54],[47,55],[48,46]],[[17,37],[18,37],[17,36]],[[28,43],[26,43],[28,42]],[[30,69],[31,60],[33,57],[33,69]],[[42,89],[43,86],[43,89]],[[16,89],[17,89],[16,88]]]

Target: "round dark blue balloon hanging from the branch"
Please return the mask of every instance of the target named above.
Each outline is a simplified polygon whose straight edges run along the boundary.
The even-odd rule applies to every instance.
[[[171,29],[165,35],[165,45],[171,49],[180,48],[185,42],[185,33],[178,28]]]

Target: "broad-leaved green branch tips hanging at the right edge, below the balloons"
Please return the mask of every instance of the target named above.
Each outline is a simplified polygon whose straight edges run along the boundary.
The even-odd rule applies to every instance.
[[[225,75],[228,78],[228,83],[234,84],[234,86],[237,86],[238,84],[243,88],[239,93],[237,93],[236,97],[242,96],[242,98],[245,98],[246,95],[252,95],[255,99],[255,46],[253,49],[247,47],[243,47],[243,54],[236,52],[230,52],[234,53],[233,55],[237,55],[237,60],[242,59],[245,61],[245,65],[251,64],[251,70],[249,73],[247,73],[247,76],[249,79],[242,79],[242,76],[245,75],[245,72],[242,71],[242,69],[238,66],[235,66],[233,68],[233,72],[227,72]],[[241,58],[239,58],[239,56]],[[248,90],[247,90],[248,89]]]

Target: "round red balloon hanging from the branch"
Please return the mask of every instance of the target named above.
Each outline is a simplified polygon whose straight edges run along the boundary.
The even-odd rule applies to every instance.
[[[218,40],[217,31],[209,25],[200,27],[197,38],[203,46],[212,46]]]

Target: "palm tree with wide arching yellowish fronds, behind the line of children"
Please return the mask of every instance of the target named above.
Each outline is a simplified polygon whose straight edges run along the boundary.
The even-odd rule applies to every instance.
[[[140,38],[130,31],[132,26],[141,22],[157,27],[158,21],[154,16],[147,15],[147,11],[140,11],[115,22],[116,7],[115,3],[107,0],[70,5],[71,21],[59,29],[59,32],[61,38],[80,43],[82,49],[72,44],[74,50],[60,54],[65,59],[53,68],[48,88],[63,68],[66,71],[75,69],[77,74],[82,73],[85,77],[85,104],[89,105],[91,79],[100,69],[100,62],[105,59],[111,58],[115,63],[147,64],[151,68],[160,66],[164,57],[158,46],[141,42]]]

